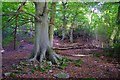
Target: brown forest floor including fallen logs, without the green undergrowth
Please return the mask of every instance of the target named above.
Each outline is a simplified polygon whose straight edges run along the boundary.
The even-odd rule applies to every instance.
[[[56,53],[67,57],[71,60],[82,60],[80,66],[69,63],[64,69],[53,67],[47,72],[34,71],[30,73],[16,74],[12,77],[17,78],[55,78],[55,74],[67,73],[70,78],[120,78],[120,65],[106,57],[96,57],[93,54],[102,54],[103,51],[92,45],[91,42],[84,42],[78,40],[77,43],[70,43],[68,41],[62,42],[59,38],[54,39],[54,47]],[[15,71],[13,65],[19,65],[20,61],[28,59],[31,54],[33,44],[22,42],[22,47],[18,50],[10,50],[10,47],[2,54],[2,74],[3,78],[10,78],[9,73]]]

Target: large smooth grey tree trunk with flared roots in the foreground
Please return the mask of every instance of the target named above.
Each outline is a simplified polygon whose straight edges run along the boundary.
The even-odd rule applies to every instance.
[[[34,2],[36,9],[35,19],[35,44],[30,61],[38,60],[40,63],[44,59],[57,63],[59,56],[52,50],[48,37],[48,14],[47,2]]]

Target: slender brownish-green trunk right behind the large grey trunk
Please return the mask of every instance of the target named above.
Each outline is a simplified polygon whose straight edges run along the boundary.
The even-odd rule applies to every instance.
[[[55,19],[55,13],[56,13],[56,2],[52,2],[51,9],[52,9],[52,11],[50,14],[49,39],[50,39],[50,45],[51,45],[51,47],[53,47],[54,19]]]

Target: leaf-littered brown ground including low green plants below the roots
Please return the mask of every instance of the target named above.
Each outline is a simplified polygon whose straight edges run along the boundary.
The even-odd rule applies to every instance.
[[[59,41],[60,42],[60,41]],[[66,44],[65,47],[69,45]],[[61,44],[60,44],[61,45]],[[72,45],[72,44],[71,44]],[[74,44],[74,45],[77,45]],[[30,55],[31,48],[27,45],[27,50],[8,51],[3,54],[3,74],[6,77],[19,77],[19,78],[109,78],[119,77],[120,72],[118,63],[109,63],[105,61],[105,57],[93,57],[93,51],[85,51],[83,49],[72,49],[60,51],[60,55],[65,58],[60,60],[59,65],[53,65],[50,61],[45,62],[44,67],[39,67],[38,63],[29,63],[25,59]],[[61,45],[62,46],[62,45]],[[80,45],[82,46],[82,45]],[[91,53],[91,54],[89,54]],[[8,55],[9,54],[9,55]],[[77,55],[77,56],[73,56]],[[85,55],[85,56],[78,56]],[[86,55],[89,55],[86,57]],[[100,54],[95,54],[99,56]],[[114,65],[113,65],[114,64]],[[59,68],[58,68],[59,67]],[[58,74],[58,75],[56,75]],[[56,75],[56,76],[54,76]],[[4,77],[3,76],[3,77]]]

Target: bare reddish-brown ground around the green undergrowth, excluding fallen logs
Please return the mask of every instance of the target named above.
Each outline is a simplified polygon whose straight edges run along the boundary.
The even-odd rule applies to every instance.
[[[87,44],[87,43],[86,43]],[[59,39],[54,39],[55,47],[68,47],[77,45],[86,45],[85,43],[63,43]],[[24,44],[22,48],[16,51],[5,51],[2,55],[2,70],[5,72],[12,71],[11,66],[17,64],[22,60],[28,59],[32,51],[32,44]],[[54,78],[53,75],[66,72],[73,78],[119,78],[120,68],[118,64],[108,63],[104,58],[93,57],[93,52],[101,52],[99,49],[89,49],[88,46],[81,49],[69,49],[69,50],[57,50],[57,53],[61,56],[68,57],[73,60],[81,59],[84,63],[80,67],[76,67],[73,64],[69,64],[65,69],[53,68],[52,72],[40,73],[35,72],[33,74],[24,74],[19,77],[21,78]]]

